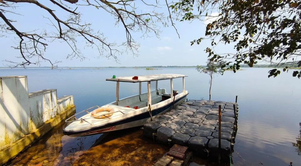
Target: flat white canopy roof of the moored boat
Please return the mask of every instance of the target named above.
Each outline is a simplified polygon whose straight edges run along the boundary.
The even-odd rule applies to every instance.
[[[133,80],[133,77],[138,77],[138,80]],[[152,75],[142,75],[142,76],[127,76],[127,77],[116,77],[107,78],[106,81],[119,81],[119,82],[147,82],[147,81],[157,81],[157,80],[169,80],[172,78],[187,77],[187,75],[182,74],[152,74]]]

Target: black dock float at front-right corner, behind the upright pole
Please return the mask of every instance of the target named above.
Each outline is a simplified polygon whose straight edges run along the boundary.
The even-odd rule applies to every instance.
[[[208,149],[209,149],[209,152],[211,154],[218,155],[218,152],[219,152],[219,139],[218,138],[210,139],[209,144],[208,144]],[[224,155],[231,154],[231,143],[227,140],[222,139],[221,140],[221,149],[222,149],[222,153]]]

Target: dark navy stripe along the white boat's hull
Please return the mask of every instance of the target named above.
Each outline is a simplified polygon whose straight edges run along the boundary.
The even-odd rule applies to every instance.
[[[184,95],[183,97],[178,98],[177,100],[175,100],[175,103],[181,101],[185,97],[187,97],[187,95]],[[156,109],[152,110],[152,115],[156,116],[156,115],[158,115],[158,114],[160,114],[163,111],[168,110],[168,109],[172,109],[172,103],[169,103],[169,104],[167,104],[163,107],[156,108]],[[113,127],[113,126],[117,126],[117,125],[122,125],[122,124],[125,124],[125,123],[135,122],[135,121],[138,121],[138,120],[141,120],[141,119],[146,119],[146,118],[150,118],[150,114],[149,114],[148,111],[144,112],[144,113],[141,113],[141,114],[138,114],[138,115],[135,115],[135,116],[131,116],[131,117],[119,120],[117,122],[111,122],[111,123],[107,123],[105,125],[100,125],[100,126],[96,126],[96,127],[93,127],[93,128],[88,128],[88,129],[85,129],[85,130],[80,130],[80,131],[65,131],[65,130],[63,130],[63,134],[65,134],[65,135],[77,135],[77,134],[82,134],[82,133],[89,132],[89,131],[100,130],[102,128],[108,128],[108,127]],[[96,133],[96,134],[100,134],[100,133]],[[93,134],[91,134],[91,135],[93,135]]]

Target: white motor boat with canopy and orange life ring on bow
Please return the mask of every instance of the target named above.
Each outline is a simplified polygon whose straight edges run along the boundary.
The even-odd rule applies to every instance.
[[[181,74],[153,74],[107,78],[107,81],[116,82],[116,101],[101,107],[90,107],[66,119],[65,122],[69,125],[64,128],[63,133],[79,137],[142,126],[186,100],[188,91],[185,90],[185,77],[187,76]],[[181,93],[173,90],[172,81],[175,78],[183,80]],[[160,80],[170,80],[171,93],[167,93],[166,89],[158,88]],[[156,82],[155,90],[151,90],[151,81]],[[119,99],[120,82],[139,83],[139,94]],[[145,93],[141,93],[142,82],[147,82]],[[81,113],[86,114],[76,118],[76,115]]]

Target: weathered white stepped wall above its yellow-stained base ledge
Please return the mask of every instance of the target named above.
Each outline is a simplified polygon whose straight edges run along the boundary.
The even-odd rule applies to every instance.
[[[27,76],[0,77],[0,150],[74,104],[56,89],[28,93]]]

